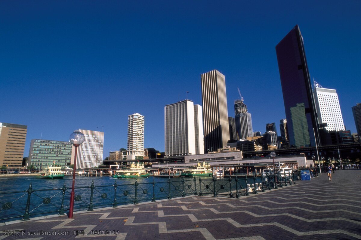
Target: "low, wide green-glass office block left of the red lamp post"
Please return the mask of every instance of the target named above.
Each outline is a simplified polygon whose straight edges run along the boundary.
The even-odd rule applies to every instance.
[[[60,165],[69,167],[71,164],[70,142],[32,139],[30,142],[28,166],[35,169],[44,169],[48,165]]]

